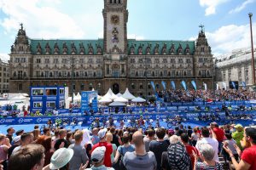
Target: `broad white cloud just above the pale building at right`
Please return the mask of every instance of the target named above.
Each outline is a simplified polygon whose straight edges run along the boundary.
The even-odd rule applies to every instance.
[[[253,41],[256,40],[256,23],[253,23]],[[213,32],[206,32],[207,40],[212,47],[212,54],[228,54],[237,48],[251,47],[249,25],[222,26]],[[195,40],[195,37],[189,38]],[[254,44],[256,45],[256,44]]]

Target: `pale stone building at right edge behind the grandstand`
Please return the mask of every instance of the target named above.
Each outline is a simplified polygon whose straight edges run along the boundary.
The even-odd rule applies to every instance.
[[[254,56],[256,48],[254,49]],[[256,63],[255,63],[256,64]],[[219,87],[223,88],[221,82],[227,84],[229,88],[230,82],[239,82],[239,87],[242,87],[241,82],[245,82],[247,88],[253,85],[252,71],[252,51],[251,48],[237,49],[232,54],[225,54],[215,61],[216,82]]]

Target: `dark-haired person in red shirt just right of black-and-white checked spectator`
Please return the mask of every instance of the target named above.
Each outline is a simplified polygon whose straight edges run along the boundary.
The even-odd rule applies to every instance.
[[[189,144],[189,135],[188,134],[182,133],[180,138],[182,140],[182,143],[186,147],[187,153],[189,154],[190,160],[192,162],[192,167],[194,167],[195,166],[195,159],[197,159],[197,157],[199,157],[199,151],[194,146],[191,146]]]

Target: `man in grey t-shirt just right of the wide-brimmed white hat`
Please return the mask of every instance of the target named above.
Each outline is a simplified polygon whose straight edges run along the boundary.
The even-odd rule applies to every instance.
[[[83,166],[89,161],[84,146],[81,146],[83,140],[83,132],[77,131],[74,134],[75,144],[71,144],[69,148],[73,149],[73,157],[69,162],[69,170],[79,170],[81,164]]]

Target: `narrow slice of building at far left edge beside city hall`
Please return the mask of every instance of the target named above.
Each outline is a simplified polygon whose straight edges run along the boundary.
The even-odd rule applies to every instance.
[[[9,93],[9,63],[0,59],[0,94]]]

